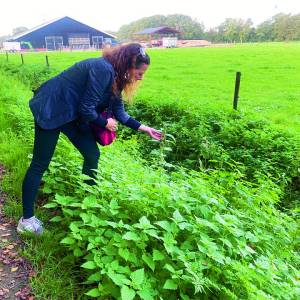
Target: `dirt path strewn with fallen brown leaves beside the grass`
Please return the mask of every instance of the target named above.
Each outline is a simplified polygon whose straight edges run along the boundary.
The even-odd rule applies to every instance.
[[[4,169],[0,165],[0,180],[3,174]],[[16,232],[14,221],[3,215],[5,198],[0,187],[0,300],[33,300],[28,279],[34,276],[34,272],[29,263],[18,254],[22,241]]]

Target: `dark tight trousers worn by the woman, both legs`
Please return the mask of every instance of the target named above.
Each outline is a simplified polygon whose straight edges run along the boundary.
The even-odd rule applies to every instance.
[[[40,182],[49,166],[60,132],[64,133],[82,154],[82,173],[95,178],[93,169],[98,168],[100,151],[89,128],[83,130],[76,121],[51,130],[42,129],[35,124],[33,157],[22,185],[23,217],[26,219],[34,215],[34,202]],[[94,181],[91,179],[87,183],[92,185]]]

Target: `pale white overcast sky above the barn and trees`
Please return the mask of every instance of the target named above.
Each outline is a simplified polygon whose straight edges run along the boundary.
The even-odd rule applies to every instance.
[[[0,36],[19,26],[32,28],[63,16],[117,31],[156,14],[189,15],[209,28],[225,18],[251,18],[257,25],[279,12],[300,13],[300,0],[8,0],[1,2]]]

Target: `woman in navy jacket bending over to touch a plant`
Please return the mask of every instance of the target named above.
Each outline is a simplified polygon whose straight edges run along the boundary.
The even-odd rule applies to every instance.
[[[64,133],[84,158],[82,172],[95,178],[100,152],[90,124],[117,129],[117,121],[160,140],[161,133],[142,125],[124,110],[123,93],[130,98],[142,80],[150,58],[141,45],[132,43],[106,50],[101,58],[76,63],[46,81],[30,100],[35,120],[33,158],[22,185],[23,217],[18,232],[41,234],[42,223],[34,216],[34,202],[42,176],[53,156],[60,132]],[[114,118],[105,119],[111,108]],[[88,181],[94,184],[94,180]]]

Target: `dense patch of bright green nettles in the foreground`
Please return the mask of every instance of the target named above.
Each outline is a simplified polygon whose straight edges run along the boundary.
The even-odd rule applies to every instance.
[[[96,186],[77,177],[45,205],[68,228],[61,243],[82,267],[87,296],[295,299],[298,225],[273,207],[272,183],[226,171],[166,174],[123,146],[102,157]]]

